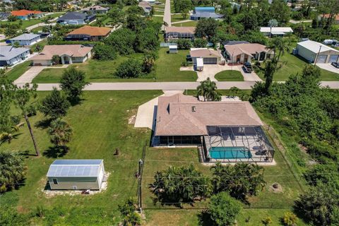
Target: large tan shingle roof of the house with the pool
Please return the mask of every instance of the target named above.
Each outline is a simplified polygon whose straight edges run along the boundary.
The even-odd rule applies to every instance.
[[[177,94],[159,97],[155,136],[207,135],[207,126],[261,125],[249,102],[201,102],[196,97]]]

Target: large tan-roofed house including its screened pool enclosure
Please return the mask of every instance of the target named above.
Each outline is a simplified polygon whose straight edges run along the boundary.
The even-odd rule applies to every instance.
[[[199,145],[204,161],[272,162],[274,149],[261,126],[247,101],[160,96],[152,145]]]

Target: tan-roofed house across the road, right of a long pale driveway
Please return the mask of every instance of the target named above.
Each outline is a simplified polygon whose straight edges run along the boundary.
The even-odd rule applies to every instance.
[[[81,44],[46,45],[42,52],[32,57],[32,61],[34,66],[50,66],[53,56],[57,55],[61,64],[83,63],[91,57],[92,49]]]

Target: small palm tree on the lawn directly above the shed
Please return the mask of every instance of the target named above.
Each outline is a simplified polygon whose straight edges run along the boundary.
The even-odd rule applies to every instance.
[[[48,133],[50,141],[56,145],[61,146],[66,150],[66,143],[71,141],[73,130],[69,124],[62,119],[54,119],[49,126]]]

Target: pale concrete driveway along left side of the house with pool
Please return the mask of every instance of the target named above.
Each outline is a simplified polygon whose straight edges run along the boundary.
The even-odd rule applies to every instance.
[[[161,96],[170,96],[177,93],[184,93],[184,90],[163,90],[163,92],[164,94]],[[138,107],[138,113],[136,114],[136,123],[134,124],[134,127],[147,127],[153,130],[155,129],[155,121],[153,121],[153,119],[155,119],[157,115],[157,100],[158,97],[155,97],[154,99],[145,102],[145,104]]]

